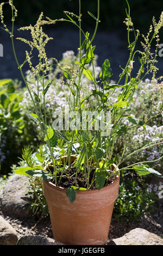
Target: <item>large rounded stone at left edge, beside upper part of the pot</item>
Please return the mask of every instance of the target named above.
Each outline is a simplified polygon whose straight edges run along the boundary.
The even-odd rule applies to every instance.
[[[25,175],[13,175],[3,188],[1,209],[3,213],[21,218],[30,218],[32,211],[29,209],[30,197],[27,197],[27,181]]]

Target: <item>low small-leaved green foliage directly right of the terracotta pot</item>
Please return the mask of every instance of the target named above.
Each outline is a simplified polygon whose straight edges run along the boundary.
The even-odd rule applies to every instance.
[[[143,214],[150,214],[155,209],[158,196],[154,190],[148,191],[149,185],[126,175],[121,176],[118,198],[115,202],[112,218],[121,221],[136,221]]]

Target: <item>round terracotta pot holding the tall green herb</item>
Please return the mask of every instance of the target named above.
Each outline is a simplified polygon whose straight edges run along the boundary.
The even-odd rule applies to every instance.
[[[104,245],[119,183],[120,175],[101,190],[76,191],[76,199],[70,203],[65,188],[43,181],[54,239],[65,245]]]

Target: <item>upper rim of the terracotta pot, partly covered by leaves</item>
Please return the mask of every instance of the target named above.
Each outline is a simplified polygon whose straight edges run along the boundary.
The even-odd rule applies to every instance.
[[[75,157],[74,155],[72,155],[72,156]],[[63,157],[66,157],[66,156],[63,156]],[[52,164],[52,161],[49,162],[48,164],[46,164],[44,169],[46,169],[49,164]],[[111,166],[114,166],[114,168],[115,168],[116,164],[113,163],[113,164],[111,164]],[[117,170],[119,170],[118,167],[117,167]],[[76,193],[84,194],[84,193],[97,193],[97,192],[104,191],[104,190],[108,189],[108,187],[114,186],[120,180],[120,172],[118,172],[118,173],[119,173],[119,175],[116,176],[116,180],[114,182],[112,182],[112,183],[102,187],[101,190],[98,190],[98,188],[94,188],[92,190],[76,190]],[[57,189],[59,191],[65,191],[66,192],[66,190],[67,190],[67,188],[56,186],[51,181],[43,180],[43,182],[48,183],[49,186],[51,186],[51,187],[53,187],[53,188],[55,188],[55,189]]]

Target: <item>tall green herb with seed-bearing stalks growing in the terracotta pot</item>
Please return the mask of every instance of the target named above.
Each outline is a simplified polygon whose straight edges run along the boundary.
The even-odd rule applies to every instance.
[[[149,121],[151,122],[153,119],[153,117],[149,117],[146,120],[133,118],[131,115],[131,103],[134,100],[134,94],[140,81],[150,73],[153,74],[153,80],[156,77],[158,68],[156,68],[155,64],[157,62],[156,57],[159,47],[159,31],[163,26],[163,12],[161,13],[158,22],[153,18],[153,24],[150,26],[147,35],[142,35],[142,50],[135,50],[137,40],[140,38],[140,32],[134,28],[130,17],[129,3],[127,1],[127,18],[124,23],[127,25],[129,58],[126,66],[122,69],[117,83],[111,84],[110,78],[112,71],[109,59],[105,59],[98,78],[95,74],[95,46],[93,46],[93,39],[95,38],[100,22],[99,2],[100,1],[97,0],[97,17],[88,11],[91,18],[96,21],[95,31],[92,36],[89,32],[85,33],[82,29],[80,0],[78,15],[65,11],[66,19],[52,20],[46,17],[44,20],[43,13],[41,13],[35,26],[30,25],[28,27],[20,28],[20,31],[29,30],[32,35],[31,41],[24,38],[18,38],[18,40],[25,42],[30,48],[29,51],[26,51],[26,59],[22,64],[18,62],[14,46],[14,21],[17,16],[17,10],[13,1],[9,0],[9,5],[12,11],[12,29],[9,31],[3,19],[2,8],[4,3],[0,5],[2,25],[4,30],[10,35],[18,69],[27,86],[30,99],[35,109],[35,113],[31,113],[30,117],[40,125],[52,161],[51,165],[45,170],[45,160],[40,154],[37,154],[38,159],[42,162],[42,166],[34,166],[33,163],[29,162],[27,167],[16,169],[15,172],[17,174],[43,176],[46,180],[53,180],[54,184],[58,186],[62,184],[64,178],[69,180],[69,172],[70,170],[73,170],[71,176],[74,177],[74,184],[68,187],[66,192],[70,202],[73,202],[76,198],[75,190],[89,190],[93,187],[100,190],[104,185],[108,184],[112,178],[116,178],[119,170],[133,169],[140,175],[153,173],[162,177],[158,171],[148,166],[148,163],[151,162],[148,160],[132,163],[129,166],[122,168],[120,166],[135,153],[163,143],[162,138],[155,139],[142,148],[125,156],[126,133],[134,127],[143,127],[143,129],[146,130]],[[48,35],[43,32],[43,25],[54,25],[56,22],[64,21],[70,22],[79,28],[79,59],[71,66],[61,65],[55,58],[48,59],[45,50],[47,42],[52,40],[52,38],[49,38]],[[153,41],[156,43],[154,53],[152,53],[151,50]],[[32,54],[34,50],[38,52],[38,64],[36,66],[34,66],[32,62]],[[137,75],[134,77],[132,71],[134,68],[134,59],[136,57],[139,58],[140,68]],[[48,76],[49,71],[51,70],[52,60],[61,70],[61,74],[63,74],[61,86],[68,88],[70,92],[70,100],[68,101],[68,114],[70,115],[67,119],[68,114],[65,112],[62,118],[66,125],[68,123],[68,129],[67,126],[65,129],[65,125],[64,127],[62,124],[60,125],[62,117],[61,113],[59,113],[60,120],[58,126],[55,125],[55,121],[52,125],[49,124],[47,120],[45,98],[48,89],[51,87],[52,81],[46,83],[46,76]],[[34,92],[31,84],[26,80],[26,77],[23,74],[23,66],[27,63],[29,64],[33,77],[35,77],[37,81],[36,92]],[[87,69],[87,65],[89,64],[91,64],[92,71]],[[85,76],[91,81],[94,87],[92,94],[86,94],[82,76]],[[42,86],[41,94],[40,84]],[[121,90],[117,96],[116,102],[113,104],[110,103],[110,97],[119,89]],[[96,106],[91,105],[90,99],[92,96],[96,101]],[[70,102],[72,103],[70,104]],[[160,111],[162,111],[162,106]],[[91,113],[93,114],[91,115]],[[53,115],[53,117],[56,118],[55,115]],[[123,124],[124,118],[128,119],[129,124]],[[95,129],[92,128],[93,125],[95,125]],[[124,148],[120,159],[117,160],[113,153],[115,142],[120,138],[124,141]],[[72,155],[76,156],[73,162],[71,161]],[[62,156],[66,156],[65,161],[61,159]],[[160,156],[159,159],[152,160],[152,162],[159,161],[162,157],[163,156]],[[112,166],[113,163],[116,163],[116,167]],[[119,170],[117,169],[118,167],[120,167]],[[84,177],[85,187],[77,186],[79,175]]]

